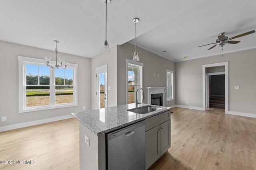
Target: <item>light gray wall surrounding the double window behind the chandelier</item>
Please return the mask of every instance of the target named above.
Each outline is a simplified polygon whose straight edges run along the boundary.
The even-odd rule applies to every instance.
[[[58,46],[61,51],[61,45]],[[54,50],[54,46],[53,46]],[[78,106],[44,111],[18,113],[18,55],[44,59],[44,56],[54,58],[54,51],[29,47],[0,41],[0,117],[6,116],[6,121],[0,121],[0,126],[36,121],[51,117],[70,115],[72,112],[91,109],[91,59],[74,55],[58,53],[69,63],[78,64]]]

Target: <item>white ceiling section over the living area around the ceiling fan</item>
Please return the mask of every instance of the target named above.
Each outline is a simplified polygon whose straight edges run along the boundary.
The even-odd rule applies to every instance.
[[[182,9],[181,7],[178,7]],[[172,61],[221,54],[213,45],[221,32],[233,37],[256,30],[256,0],[210,0],[137,37],[138,46]],[[137,27],[140,28],[140,23]],[[224,46],[223,53],[256,48],[256,33],[234,39],[241,41]],[[134,39],[130,41],[134,44]],[[163,53],[167,51],[168,53]]]

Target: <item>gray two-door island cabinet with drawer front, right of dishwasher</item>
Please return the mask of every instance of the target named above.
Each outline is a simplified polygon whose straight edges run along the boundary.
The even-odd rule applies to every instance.
[[[171,147],[170,111],[146,119],[145,124],[146,169],[148,169]],[[154,125],[154,127],[152,127],[152,125]],[[151,127],[151,129],[147,127]]]

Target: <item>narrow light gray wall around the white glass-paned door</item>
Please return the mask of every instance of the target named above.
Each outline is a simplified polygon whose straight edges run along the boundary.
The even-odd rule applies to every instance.
[[[108,107],[117,106],[116,48],[116,46],[112,47],[109,54],[100,53],[92,58],[92,109],[96,109],[96,68],[105,64],[108,65],[108,86],[111,88],[108,90]]]

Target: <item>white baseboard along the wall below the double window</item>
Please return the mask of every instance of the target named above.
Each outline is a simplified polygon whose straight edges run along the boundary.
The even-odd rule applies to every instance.
[[[14,125],[7,125],[7,126],[0,127],[0,132],[12,130],[12,129],[18,129],[18,128],[21,128],[21,127],[28,127],[28,126],[32,126],[32,125],[39,125],[39,124],[42,124],[42,123],[48,123],[48,122],[52,122],[52,121],[70,119],[70,118],[72,118],[71,115],[65,115],[65,116],[59,116],[59,117],[52,117],[52,118],[48,118],[48,119],[29,121],[29,122],[25,122],[25,123],[17,123],[17,124],[14,124]]]

